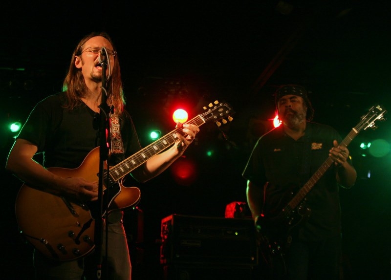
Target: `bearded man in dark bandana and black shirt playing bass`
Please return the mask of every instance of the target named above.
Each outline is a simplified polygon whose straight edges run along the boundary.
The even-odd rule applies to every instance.
[[[261,136],[242,173],[260,236],[262,279],[338,280],[339,188],[352,187],[357,173],[339,133],[312,122],[303,86],[280,86],[275,101],[282,125]],[[328,158],[332,164],[323,170]],[[296,194],[305,194],[299,203]]]

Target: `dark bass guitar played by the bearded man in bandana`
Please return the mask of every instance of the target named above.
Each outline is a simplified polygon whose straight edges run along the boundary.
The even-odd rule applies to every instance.
[[[387,111],[382,106],[371,107],[339,145],[348,147],[361,130],[376,129],[375,122],[385,120],[385,113]],[[283,204],[285,207],[280,208],[274,215],[265,213],[257,220],[258,244],[263,258],[269,265],[272,265],[272,262],[276,262],[276,260],[283,263],[283,256],[292,241],[292,231],[302,225],[311,214],[311,209],[305,205],[305,197],[333,163],[332,158],[328,157],[296,194],[291,192],[281,199],[281,201],[289,201],[286,205]],[[267,185],[268,183],[264,186],[265,191]],[[274,265],[276,264],[274,263]],[[279,265],[281,267],[281,263]],[[284,265],[282,264],[282,266]]]

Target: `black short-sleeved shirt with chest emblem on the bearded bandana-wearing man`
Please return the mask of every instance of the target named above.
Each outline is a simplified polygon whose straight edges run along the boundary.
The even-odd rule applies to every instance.
[[[342,138],[335,129],[317,123],[307,123],[305,135],[297,141],[286,135],[282,126],[273,129],[258,140],[242,175],[260,186],[268,182],[265,205],[270,201],[279,202],[282,209],[293,197],[289,193],[296,194],[323,167],[333,140],[341,143]],[[306,195],[305,205],[311,209],[311,215],[300,232],[305,240],[320,240],[341,233],[336,168],[331,165],[322,172]],[[282,197],[287,200],[281,201]]]

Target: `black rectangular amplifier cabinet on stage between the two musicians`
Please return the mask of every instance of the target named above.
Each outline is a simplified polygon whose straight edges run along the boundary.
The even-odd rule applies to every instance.
[[[161,264],[258,264],[251,218],[170,215],[161,221]]]

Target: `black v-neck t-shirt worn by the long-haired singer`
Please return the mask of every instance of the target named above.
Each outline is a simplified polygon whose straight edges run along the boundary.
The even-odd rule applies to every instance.
[[[94,118],[99,126],[99,114],[84,103],[66,110],[64,93],[51,95],[39,102],[30,113],[18,138],[37,145],[43,153],[44,167],[77,168],[87,154],[100,145],[100,132],[94,128]],[[141,149],[129,113],[119,116],[125,157]],[[118,159],[119,158],[119,159]],[[118,163],[121,156],[110,157],[110,165]]]

